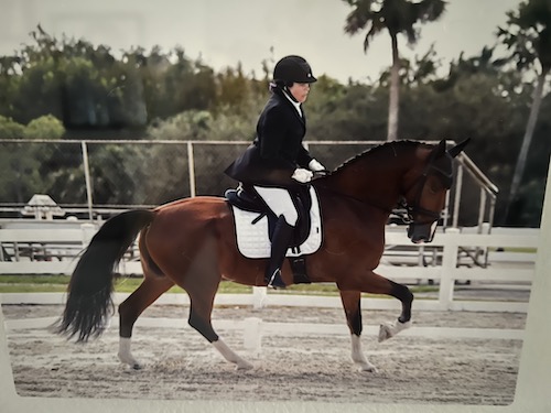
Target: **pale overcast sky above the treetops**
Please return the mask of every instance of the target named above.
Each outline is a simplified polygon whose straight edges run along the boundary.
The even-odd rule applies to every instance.
[[[449,0],[437,22],[423,24],[414,48],[399,40],[403,57],[422,56],[434,44],[442,70],[461,52],[478,54],[496,42],[506,11],[520,0]],[[40,23],[50,34],[85,39],[114,52],[180,45],[216,70],[242,65],[261,76],[263,59],[305,57],[314,75],[343,83],[377,79],[391,64],[390,36],[379,34],[364,53],[365,32],[344,32],[350,7],[343,0],[0,0],[0,55],[31,44]]]

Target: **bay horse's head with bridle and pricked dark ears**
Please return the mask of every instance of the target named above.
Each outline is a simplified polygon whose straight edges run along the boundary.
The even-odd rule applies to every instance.
[[[453,181],[453,159],[469,139],[446,150],[445,140],[440,141],[426,156],[423,172],[406,192],[408,210],[408,237],[414,243],[431,242],[437,220],[445,206],[446,193]]]

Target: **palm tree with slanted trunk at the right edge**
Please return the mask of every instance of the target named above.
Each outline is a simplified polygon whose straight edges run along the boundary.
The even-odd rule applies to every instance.
[[[532,95],[530,116],[512,175],[509,199],[505,210],[506,219],[511,204],[516,200],[525,172],[528,149],[541,107],[543,86],[551,70],[551,2],[549,0],[523,1],[519,4],[518,10],[507,12],[507,28],[499,28],[497,35],[510,51],[511,57],[516,59],[518,69],[533,68],[536,70],[537,83]]]

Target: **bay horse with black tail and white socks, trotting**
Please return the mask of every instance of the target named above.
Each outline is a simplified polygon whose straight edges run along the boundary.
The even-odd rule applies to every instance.
[[[306,257],[307,273],[311,282],[336,283],[352,335],[352,359],[359,370],[376,371],[360,345],[361,293],[386,294],[401,302],[400,316],[381,326],[379,340],[411,325],[413,294],[374,272],[383,253],[385,226],[392,208],[402,202],[411,240],[430,242],[452,185],[453,157],[467,141],[450,150],[445,140],[436,145],[385,143],[311,183],[320,200],[323,241]],[[222,197],[184,198],[107,220],[75,267],[56,332],[76,336],[77,341],[101,334],[112,311],[114,270],[138,235],[144,278],[118,308],[119,359],[134,369],[141,367],[130,349],[133,325],[161,294],[179,285],[190,296],[188,324],[237,369],[251,368],[216,334],[210,316],[220,281],[266,285],[267,260],[245,258],[238,251],[230,205]],[[292,284],[289,262],[282,278]]]

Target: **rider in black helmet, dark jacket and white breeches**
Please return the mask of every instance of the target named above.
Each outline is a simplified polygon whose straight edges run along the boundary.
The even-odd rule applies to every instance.
[[[253,185],[279,217],[264,273],[264,281],[272,289],[285,287],[281,267],[299,218],[289,188],[296,182],[310,182],[313,172],[325,171],[302,145],[306,133],[302,104],[307,98],[310,84],[316,80],[304,58],[295,55],[281,58],[273,68],[271,96],[258,120],[257,135],[245,153],[225,171],[230,177]]]

